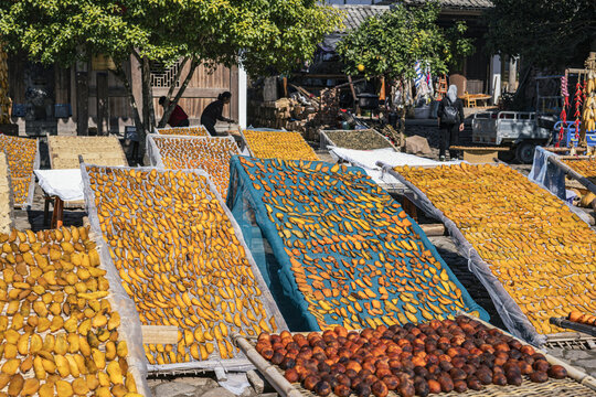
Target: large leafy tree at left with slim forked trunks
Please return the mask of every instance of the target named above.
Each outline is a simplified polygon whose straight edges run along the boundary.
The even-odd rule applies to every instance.
[[[323,34],[340,23],[338,11],[315,0],[14,0],[0,3],[0,35],[31,60],[70,67],[94,54],[111,56],[139,131],[164,126],[200,64],[243,65],[251,74],[286,72],[309,58]],[[142,112],[123,63],[140,64]],[[170,86],[170,106],[155,117],[150,65],[182,60]],[[182,67],[179,68],[181,71]],[[179,88],[177,86],[180,85]]]

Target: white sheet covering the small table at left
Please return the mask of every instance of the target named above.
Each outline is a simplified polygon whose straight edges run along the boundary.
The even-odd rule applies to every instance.
[[[62,201],[84,200],[81,169],[74,170],[35,170],[38,184],[50,196]]]

